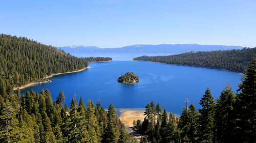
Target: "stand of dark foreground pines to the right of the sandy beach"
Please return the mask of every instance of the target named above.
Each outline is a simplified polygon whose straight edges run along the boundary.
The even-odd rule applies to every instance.
[[[157,142],[256,142],[256,56],[239,84],[235,95],[228,83],[215,100],[207,88],[200,100],[200,109],[185,104],[180,118],[169,116],[160,103],[145,107],[144,121],[135,120],[142,134],[140,143]]]

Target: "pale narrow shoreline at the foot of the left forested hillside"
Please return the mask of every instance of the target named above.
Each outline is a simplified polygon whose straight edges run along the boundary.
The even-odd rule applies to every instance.
[[[83,69],[80,69],[80,70],[75,70],[75,71],[69,71],[69,72],[62,72],[62,73],[55,73],[55,74],[51,74],[51,75],[47,75],[46,77],[44,77],[44,79],[46,79],[45,81],[40,81],[40,82],[30,82],[30,83],[28,83],[28,84],[26,84],[26,85],[23,85],[23,86],[20,86],[20,87],[14,87],[13,88],[13,91],[16,91],[16,90],[22,90],[22,89],[25,89],[25,88],[28,88],[28,87],[31,87],[32,85],[36,85],[36,84],[42,84],[42,83],[49,83],[49,82],[52,82],[51,80],[49,80],[48,78],[51,78],[51,77],[53,77],[53,76],[55,76],[55,75],[60,75],[60,74],[68,74],[68,73],[76,73],[76,72],[81,72],[81,71],[84,71],[84,70],[86,70],[86,69],[89,69],[89,68],[91,68],[90,66],[88,66],[88,67],[85,67],[85,68],[83,68]]]

